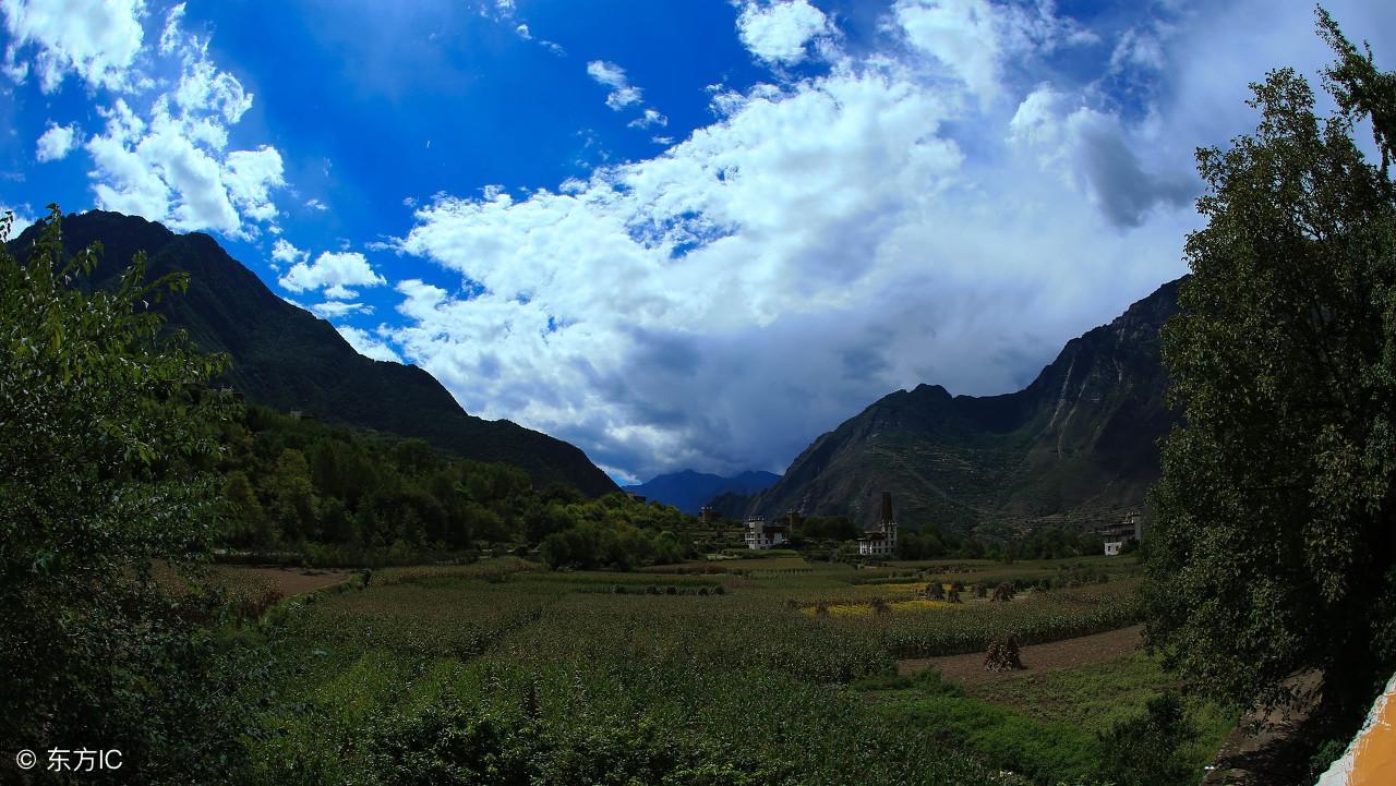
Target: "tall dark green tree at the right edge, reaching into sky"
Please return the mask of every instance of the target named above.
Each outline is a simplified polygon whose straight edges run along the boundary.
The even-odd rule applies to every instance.
[[[1149,641],[1238,702],[1315,667],[1356,698],[1396,653],[1396,80],[1322,11],[1319,29],[1340,110],[1273,71],[1255,134],[1198,151],[1208,226],[1163,331],[1184,422],[1153,491]]]

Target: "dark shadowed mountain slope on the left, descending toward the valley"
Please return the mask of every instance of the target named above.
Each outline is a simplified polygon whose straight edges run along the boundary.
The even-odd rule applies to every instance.
[[[13,253],[24,260],[38,232],[38,226],[27,229],[11,243]],[[98,286],[114,279],[141,250],[149,278],[190,274],[188,290],[156,307],[169,327],[188,331],[204,350],[232,356],[226,381],[250,402],[419,437],[461,458],[512,464],[539,484],[563,482],[592,496],[616,490],[575,445],[508,420],[468,415],[422,369],[359,355],[329,322],[274,295],[208,235],[176,235],[116,212],[63,218],[68,253],[92,242],[103,247],[94,271]]]

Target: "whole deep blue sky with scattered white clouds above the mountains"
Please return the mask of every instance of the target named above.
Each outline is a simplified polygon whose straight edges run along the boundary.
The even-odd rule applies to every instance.
[[[1396,11],[1330,10],[1396,52]],[[1184,271],[1307,3],[13,0],[0,205],[215,235],[621,480],[1016,390]]]

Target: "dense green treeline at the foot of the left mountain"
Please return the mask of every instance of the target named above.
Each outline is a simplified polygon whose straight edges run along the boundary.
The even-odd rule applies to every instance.
[[[226,429],[228,546],[317,564],[412,561],[483,547],[542,547],[553,567],[632,567],[691,553],[690,517],[614,493],[535,489],[505,464],[454,459],[384,437],[250,405]]]

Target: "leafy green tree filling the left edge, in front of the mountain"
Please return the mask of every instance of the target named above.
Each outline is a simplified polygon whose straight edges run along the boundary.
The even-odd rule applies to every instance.
[[[184,279],[147,282],[138,255],[92,290],[99,250],[67,255],[50,209],[22,262],[0,247],[0,740],[119,748],[121,782],[216,782],[243,726],[190,621],[215,609],[152,563],[195,564],[216,533],[207,468],[233,405],[204,384],[223,360],[161,335],[149,306]]]

